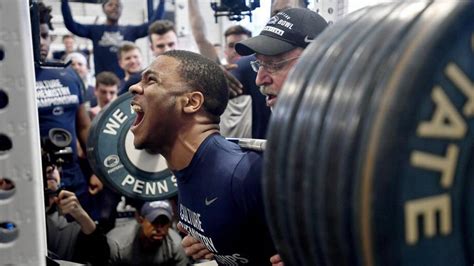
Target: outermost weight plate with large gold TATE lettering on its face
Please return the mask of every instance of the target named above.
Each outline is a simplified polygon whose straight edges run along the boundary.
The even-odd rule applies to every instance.
[[[364,265],[472,264],[473,34],[474,3],[435,2],[378,80],[355,156]]]

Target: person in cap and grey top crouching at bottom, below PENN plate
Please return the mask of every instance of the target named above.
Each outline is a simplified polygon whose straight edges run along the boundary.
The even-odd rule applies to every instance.
[[[187,265],[181,237],[171,227],[173,210],[168,201],[145,202],[136,220],[109,232],[111,265]]]

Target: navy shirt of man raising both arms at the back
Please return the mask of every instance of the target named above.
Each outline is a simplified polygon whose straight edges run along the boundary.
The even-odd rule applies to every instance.
[[[96,75],[102,71],[111,71],[119,78],[125,76],[117,59],[117,51],[123,41],[134,42],[138,38],[147,36],[148,26],[153,21],[161,19],[165,12],[164,0],[156,9],[152,20],[141,25],[84,25],[74,21],[67,0],[61,1],[64,24],[73,34],[92,40],[94,47],[94,66]]]

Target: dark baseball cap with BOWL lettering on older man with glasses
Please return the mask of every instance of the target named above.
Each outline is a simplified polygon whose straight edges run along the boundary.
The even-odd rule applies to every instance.
[[[240,55],[277,55],[294,48],[306,48],[328,25],[307,8],[290,8],[271,17],[260,35],[235,45]]]

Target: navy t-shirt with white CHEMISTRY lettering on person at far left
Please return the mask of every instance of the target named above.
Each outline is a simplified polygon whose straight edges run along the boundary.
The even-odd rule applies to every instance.
[[[68,67],[65,69],[35,68],[36,102],[38,105],[41,138],[48,137],[52,128],[62,128],[71,133],[73,150],[71,163],[63,165],[61,182],[76,194],[87,190],[87,183],[77,158],[76,115],[82,104],[83,83]]]

